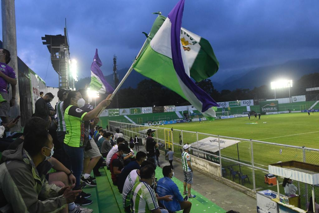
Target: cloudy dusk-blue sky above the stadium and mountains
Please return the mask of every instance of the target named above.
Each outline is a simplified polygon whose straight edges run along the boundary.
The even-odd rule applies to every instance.
[[[66,18],[78,78],[90,75],[95,48],[110,74],[114,54],[119,69],[130,66],[145,40],[141,32],[149,32],[156,18],[152,12],[167,15],[177,1],[15,1],[18,56],[47,86],[57,87],[41,36],[63,34]],[[186,0],[182,26],[210,41],[219,81],[256,66],[319,58],[318,11],[317,0]]]

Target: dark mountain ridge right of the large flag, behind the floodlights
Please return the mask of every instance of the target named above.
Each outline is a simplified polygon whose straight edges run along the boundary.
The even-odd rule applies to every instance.
[[[213,76],[212,82],[214,88],[219,91],[237,88],[253,89],[262,85],[270,85],[271,81],[279,78],[296,81],[301,76],[314,72],[319,72],[319,58],[293,60],[279,65],[258,67],[241,75],[231,76],[223,83],[214,82]]]

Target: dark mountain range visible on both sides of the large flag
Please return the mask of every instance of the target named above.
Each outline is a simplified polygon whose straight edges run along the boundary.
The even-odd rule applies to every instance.
[[[128,68],[124,68],[118,71],[120,80],[122,80],[127,70]],[[219,78],[217,75],[223,75],[222,71],[219,71],[210,79],[212,80],[214,88],[218,91],[223,89],[234,90],[236,88],[253,89],[254,87],[260,87],[262,85],[270,85],[271,81],[279,78],[296,81],[300,79],[301,76],[314,72],[319,72],[319,58],[292,60],[279,65],[257,67],[250,71],[239,70],[235,72],[236,74],[234,75],[231,75],[230,72],[225,72],[229,77],[222,82],[216,82],[216,79]],[[105,76],[105,79],[114,87],[113,74]],[[144,79],[147,78],[133,70],[129,78],[122,85],[122,88],[136,88],[137,84]],[[76,88],[85,87],[85,84],[89,84],[90,80],[90,77],[80,79],[76,83]]]

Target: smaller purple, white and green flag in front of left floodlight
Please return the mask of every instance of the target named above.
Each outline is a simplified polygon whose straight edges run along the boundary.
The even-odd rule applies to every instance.
[[[98,55],[98,49],[95,49],[95,55],[91,65],[90,89],[98,91],[101,94],[111,94],[114,89],[105,80],[103,72],[100,69],[101,66],[102,62]]]

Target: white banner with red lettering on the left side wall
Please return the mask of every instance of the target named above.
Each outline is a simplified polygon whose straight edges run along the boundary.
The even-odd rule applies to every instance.
[[[45,82],[40,78],[40,76],[35,74],[31,69],[29,69],[29,76],[31,83],[32,107],[34,112],[35,102],[40,98],[40,92],[44,92],[44,94],[46,94],[47,87],[45,86]]]

